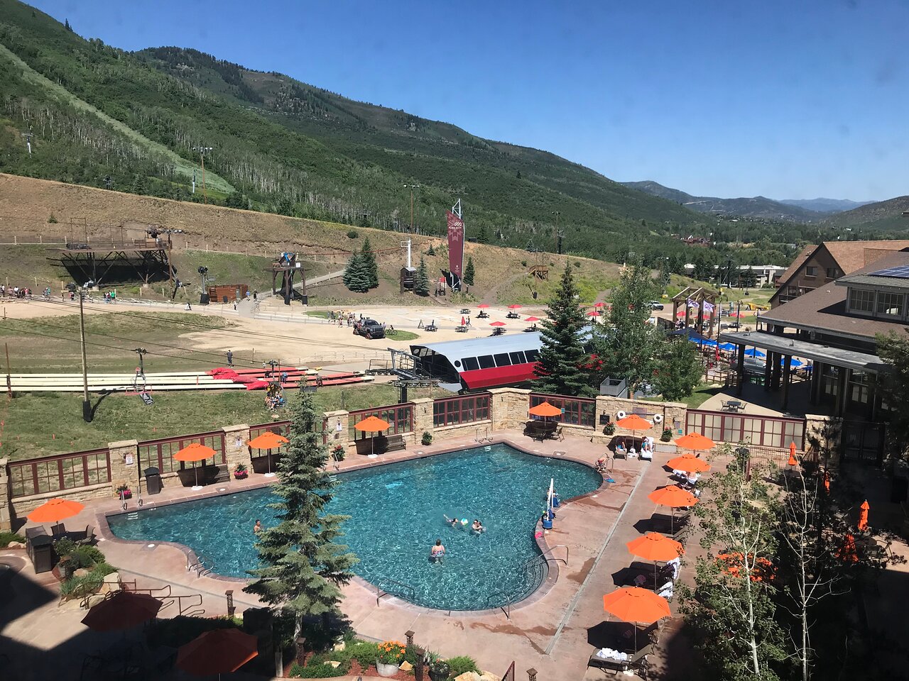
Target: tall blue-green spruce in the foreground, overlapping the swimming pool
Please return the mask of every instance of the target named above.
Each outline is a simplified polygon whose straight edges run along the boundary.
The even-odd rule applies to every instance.
[[[273,489],[280,501],[271,505],[279,522],[259,533],[255,548],[263,567],[250,570],[257,579],[244,591],[292,615],[296,638],[305,616],[327,617],[337,610],[339,587],[353,577],[356,557],[335,543],[349,516],[325,514],[335,483],[325,470],[328,449],[316,432],[322,423],[313,396],[300,393],[291,409],[290,443]]]

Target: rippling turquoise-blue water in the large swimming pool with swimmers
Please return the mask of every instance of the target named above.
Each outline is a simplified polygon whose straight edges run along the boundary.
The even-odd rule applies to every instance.
[[[488,449],[488,450],[487,450]],[[562,498],[594,491],[594,469],[524,454],[507,445],[465,449],[336,476],[331,513],[348,515],[345,543],[360,562],[354,571],[418,605],[452,610],[497,607],[526,597],[541,574],[521,567],[539,554],[534,525],[549,479]],[[257,566],[253,526],[275,524],[269,489],[188,501],[108,518],[117,537],[175,541],[215,563],[215,572],[247,577]],[[445,518],[473,522],[482,535],[451,528]],[[441,538],[447,555],[428,560]],[[413,588],[383,584],[394,579]]]

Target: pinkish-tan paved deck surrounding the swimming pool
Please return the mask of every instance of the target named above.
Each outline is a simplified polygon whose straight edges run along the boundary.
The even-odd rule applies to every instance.
[[[604,452],[602,445],[583,438],[568,437],[540,443],[517,430],[497,431],[494,435],[494,441],[512,444],[530,453],[591,465]],[[435,446],[417,447],[376,459],[351,457],[341,462],[337,469],[360,469],[476,446],[473,438],[445,439]],[[588,629],[608,618],[603,610],[603,596],[615,588],[614,573],[627,568],[634,560],[624,544],[645,531],[639,521],[649,518],[655,510],[647,494],[668,482],[662,462],[671,456],[657,453],[654,461],[650,462],[638,459],[616,461],[612,472],[614,483],[563,504],[558,510],[554,528],[546,533],[544,539],[549,547],[560,547],[553,549],[551,555],[554,557],[563,558],[567,548],[568,564],[565,566],[559,561],[558,577],[550,577],[546,585],[548,588],[544,587],[524,604],[512,607],[510,618],[501,609],[483,613],[427,610],[391,596],[383,597],[377,605],[375,587],[362,580],[344,588],[342,609],[361,636],[403,640],[405,631],[413,630],[417,644],[443,656],[473,656],[480,666],[497,675],[504,674],[514,661],[519,678],[523,678],[525,671],[531,667],[546,681],[605,678],[607,675],[602,671],[586,669],[587,659],[594,651],[594,646],[588,643]],[[197,492],[171,484],[161,494],[145,497],[144,508],[205,498],[218,490],[235,493],[255,489],[271,480],[274,479],[253,475],[246,480],[232,480]],[[134,498],[129,503],[129,510],[135,508]],[[108,562],[120,568],[123,580],[135,579],[139,588],[170,584],[174,594],[201,594],[206,616],[225,615],[226,589],[234,590],[238,613],[246,607],[259,605],[255,597],[243,593],[244,580],[198,577],[195,571],[187,571],[187,554],[191,552],[184,548],[165,543],[149,547],[145,542],[114,538],[107,528],[105,515],[120,510],[115,499],[93,502],[75,518],[67,519],[65,525],[70,530],[94,526],[100,540],[99,547],[105,552]],[[78,670],[86,649],[98,647],[94,641],[103,641],[103,637],[87,632],[80,624],[85,616],[84,610],[80,611],[72,605],[57,607],[57,587],[53,578],[46,578],[50,573],[35,576],[25,552],[0,549],[0,561],[9,557],[24,558],[27,565],[19,574],[30,578],[35,585],[45,587],[54,596],[44,598],[44,602],[34,608],[20,608],[16,613],[18,617],[0,629],[0,633],[13,643],[26,646],[23,655],[28,666],[46,664],[40,653],[54,648],[55,653],[69,650],[74,656],[70,667]],[[171,606],[161,612],[161,617],[178,614],[176,606]],[[0,620],[2,624],[3,620]],[[672,629],[674,624],[676,622],[671,621],[666,627]],[[76,639],[81,642],[78,646],[72,645]],[[55,668],[59,669],[60,657],[55,655],[54,659]],[[35,667],[32,666],[30,671],[34,673]],[[55,675],[55,678],[63,677]]]

